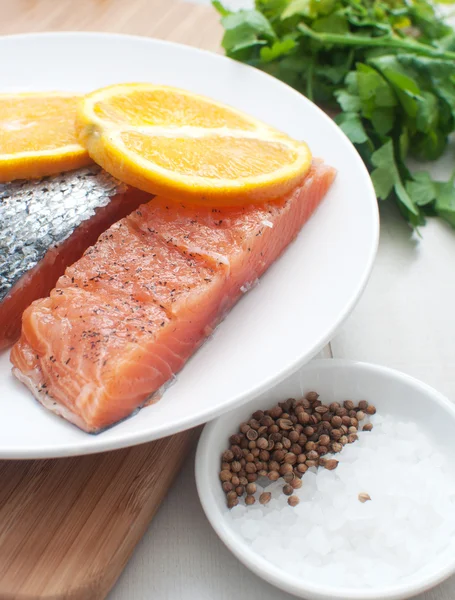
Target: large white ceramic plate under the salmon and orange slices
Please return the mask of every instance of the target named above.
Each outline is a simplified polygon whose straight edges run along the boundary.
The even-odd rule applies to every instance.
[[[91,436],[41,408],[0,356],[0,458],[88,454],[204,423],[285,378],[349,315],[370,274],[378,212],[368,173],[340,129],[302,95],[215,54],[147,38],[52,33],[0,38],[0,91],[89,91],[150,81],[222,100],[304,139],[338,170],[317,213],[195,354],[163,399]]]

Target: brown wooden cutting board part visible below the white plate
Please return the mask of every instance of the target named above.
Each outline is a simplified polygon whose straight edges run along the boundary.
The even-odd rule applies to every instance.
[[[0,461],[0,599],[105,598],[197,434],[92,456]]]

